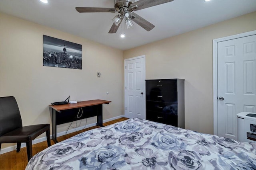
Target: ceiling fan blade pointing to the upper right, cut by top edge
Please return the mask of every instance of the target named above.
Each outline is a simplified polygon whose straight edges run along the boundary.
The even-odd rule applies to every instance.
[[[137,8],[134,9],[134,11],[137,11],[172,1],[173,0],[139,0],[137,2],[132,3],[130,6],[137,6]]]

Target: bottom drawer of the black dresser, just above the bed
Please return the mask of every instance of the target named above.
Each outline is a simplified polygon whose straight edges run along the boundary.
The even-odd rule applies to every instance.
[[[178,116],[146,110],[146,119],[167,125],[178,126]]]

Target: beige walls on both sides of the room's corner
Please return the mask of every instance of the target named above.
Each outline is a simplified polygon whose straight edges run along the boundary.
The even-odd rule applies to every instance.
[[[186,129],[213,133],[212,39],[255,29],[256,12],[123,53],[1,13],[0,96],[16,97],[23,125],[51,123],[48,104],[69,95],[78,101],[111,100],[103,106],[103,119],[109,119],[124,113],[124,59],[146,55],[146,79],[185,79]],[[43,66],[43,35],[82,44],[83,69]],[[97,72],[102,73],[100,78]],[[87,124],[95,122],[93,117]],[[59,125],[58,132],[67,125]]]

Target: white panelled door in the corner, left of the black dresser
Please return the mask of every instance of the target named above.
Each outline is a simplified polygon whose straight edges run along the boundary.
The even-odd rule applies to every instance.
[[[135,57],[124,61],[125,64],[125,90],[124,90],[124,116],[128,118],[145,118],[145,56]]]

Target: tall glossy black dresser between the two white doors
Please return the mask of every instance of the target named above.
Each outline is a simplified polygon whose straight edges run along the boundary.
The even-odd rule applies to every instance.
[[[184,79],[146,80],[146,119],[184,128]]]

